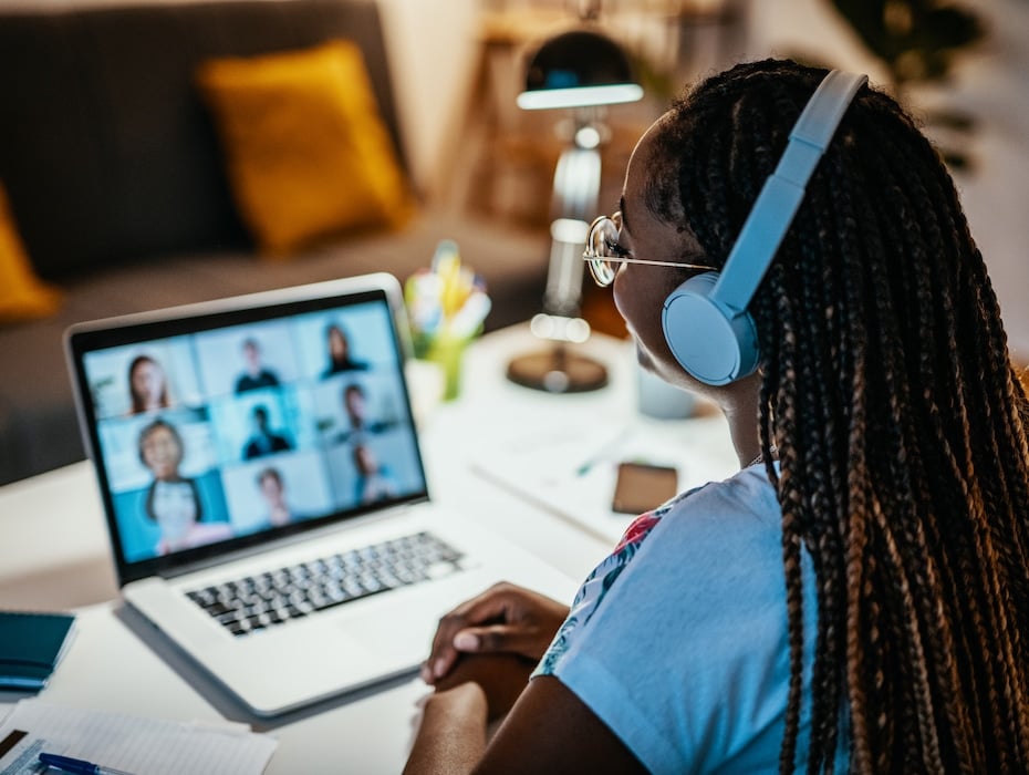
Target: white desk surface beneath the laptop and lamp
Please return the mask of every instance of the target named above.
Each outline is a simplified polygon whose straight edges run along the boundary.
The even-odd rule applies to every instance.
[[[503,376],[508,359],[533,347],[539,343],[527,329],[516,327],[469,350],[461,399],[425,418],[426,468],[435,499],[475,514],[484,526],[580,579],[611,546],[475,475],[470,464],[488,455],[496,440],[552,427],[570,416],[645,422],[636,414],[635,365],[626,342],[597,335],[584,350],[607,364],[609,388],[580,395],[537,393]],[[417,679],[262,724],[155,642],[116,602],[102,507],[87,463],[0,488],[0,607],[80,607],[75,641],[42,694],[46,700],[181,720],[249,721],[280,741],[267,771],[272,775],[396,773],[403,767],[417,719],[415,703],[426,693]],[[14,699],[0,693],[0,703]]]

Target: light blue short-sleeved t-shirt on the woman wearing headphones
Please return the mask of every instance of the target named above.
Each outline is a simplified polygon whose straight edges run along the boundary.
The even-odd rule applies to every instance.
[[[781,537],[761,465],[641,516],[583,583],[533,675],[555,675],[652,773],[778,772],[790,678]],[[799,763],[817,632],[807,552],[802,577]],[[843,744],[836,772],[846,765]]]

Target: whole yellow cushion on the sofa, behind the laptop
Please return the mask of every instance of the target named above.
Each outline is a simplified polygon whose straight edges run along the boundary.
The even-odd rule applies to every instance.
[[[197,79],[236,204],[263,252],[396,227],[413,211],[355,44],[209,60]]]

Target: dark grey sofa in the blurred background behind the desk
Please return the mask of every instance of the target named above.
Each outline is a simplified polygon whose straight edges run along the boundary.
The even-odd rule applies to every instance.
[[[399,230],[257,256],[196,66],[332,38],[362,48],[403,161],[373,0],[0,8],[0,183],[37,272],[64,294],[53,317],[0,324],[0,484],[84,456],[62,352],[75,321],[366,271],[403,280],[444,238],[486,278],[487,329],[538,309],[545,234],[425,203]]]

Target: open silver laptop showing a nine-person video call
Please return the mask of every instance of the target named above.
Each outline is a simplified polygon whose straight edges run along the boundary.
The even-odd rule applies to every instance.
[[[571,580],[429,497],[375,273],[65,334],[124,600],[272,716],[403,675],[441,614]]]

